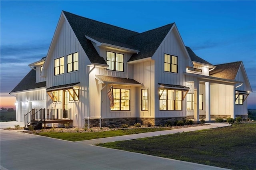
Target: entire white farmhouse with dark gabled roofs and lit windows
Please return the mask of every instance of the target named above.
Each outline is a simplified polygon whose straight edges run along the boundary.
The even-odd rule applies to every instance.
[[[138,33],[62,11],[47,56],[29,66],[11,91],[18,121],[40,108],[70,109],[74,127],[246,118],[252,92],[242,61],[205,61],[175,23]]]

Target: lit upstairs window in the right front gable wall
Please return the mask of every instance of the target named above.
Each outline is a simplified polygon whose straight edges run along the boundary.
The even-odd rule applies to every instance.
[[[164,54],[164,71],[178,73],[178,57]]]

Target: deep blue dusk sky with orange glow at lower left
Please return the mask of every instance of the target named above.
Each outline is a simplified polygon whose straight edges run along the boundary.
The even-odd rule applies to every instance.
[[[182,40],[216,65],[243,61],[256,109],[256,1],[0,1],[0,107],[46,56],[62,10],[136,32],[175,22]]]

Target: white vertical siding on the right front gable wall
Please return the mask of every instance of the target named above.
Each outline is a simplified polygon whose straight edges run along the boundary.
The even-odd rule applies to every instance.
[[[170,73],[164,71],[164,54],[178,57],[178,73]],[[175,29],[173,29],[170,34],[167,35],[167,37],[154,53],[152,59],[155,60],[156,64],[155,87],[158,87],[158,83],[185,86],[185,76],[183,72],[186,71],[186,67],[189,65],[189,60]],[[155,94],[155,101],[159,101],[158,88],[155,88]],[[155,117],[185,117],[185,109],[185,100],[182,101],[182,111],[159,111],[159,102],[156,102]]]

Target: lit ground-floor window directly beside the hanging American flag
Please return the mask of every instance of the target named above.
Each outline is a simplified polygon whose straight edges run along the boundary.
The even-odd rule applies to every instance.
[[[130,90],[113,89],[114,108],[112,111],[130,111]]]

